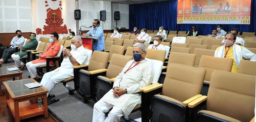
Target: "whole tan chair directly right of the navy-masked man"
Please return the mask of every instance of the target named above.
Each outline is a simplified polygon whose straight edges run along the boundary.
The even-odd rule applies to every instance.
[[[203,106],[189,108],[188,104],[201,97],[200,94],[206,70],[192,66],[170,64],[163,84],[144,89],[142,95],[151,107],[146,106],[149,122],[193,122],[194,113]],[[143,115],[143,111],[142,111]]]

